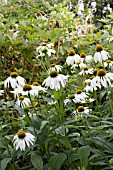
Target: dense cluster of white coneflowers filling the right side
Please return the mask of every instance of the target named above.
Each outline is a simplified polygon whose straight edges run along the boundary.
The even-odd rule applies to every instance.
[[[105,51],[101,45],[97,45],[95,50],[94,57],[86,55],[84,52],[81,52],[79,55],[76,54],[74,50],[68,51],[66,64],[71,66],[70,69],[78,70],[79,72],[77,75],[81,78],[83,77],[85,79],[84,82],[86,83],[83,91],[78,89],[76,90],[76,94],[68,95],[64,100],[65,105],[70,103],[77,104],[77,108],[72,112],[72,116],[75,116],[78,113],[80,113],[80,115],[82,115],[82,113],[88,114],[91,111],[88,107],[81,105],[95,101],[94,98],[90,98],[90,92],[113,86],[113,73],[105,70],[105,68],[107,70],[112,68],[113,61],[111,61],[109,53]],[[98,63],[101,68],[95,67]],[[91,68],[91,65],[94,67]],[[76,73],[76,71],[72,73]]]

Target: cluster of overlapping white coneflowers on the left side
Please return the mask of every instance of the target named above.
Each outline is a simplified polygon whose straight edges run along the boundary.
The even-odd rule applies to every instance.
[[[26,80],[18,76],[17,72],[12,72],[10,77],[4,81],[4,87],[13,89],[10,93],[14,94],[15,99],[17,99],[16,104],[20,107],[29,106],[30,99],[29,95],[38,96],[39,91],[46,92],[46,88],[41,87],[38,82],[34,82],[32,85],[26,84]],[[1,94],[3,91],[1,92]],[[27,97],[26,97],[27,96]]]

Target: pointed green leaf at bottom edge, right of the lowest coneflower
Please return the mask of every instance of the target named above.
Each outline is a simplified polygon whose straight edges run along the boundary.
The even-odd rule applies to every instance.
[[[40,155],[37,155],[36,153],[32,152],[31,162],[37,170],[43,170],[43,161]]]

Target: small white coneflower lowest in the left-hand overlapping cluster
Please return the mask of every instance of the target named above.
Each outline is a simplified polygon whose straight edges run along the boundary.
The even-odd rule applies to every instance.
[[[30,99],[24,96],[20,96],[16,101],[16,104],[22,108],[25,106],[29,106],[30,103]]]

